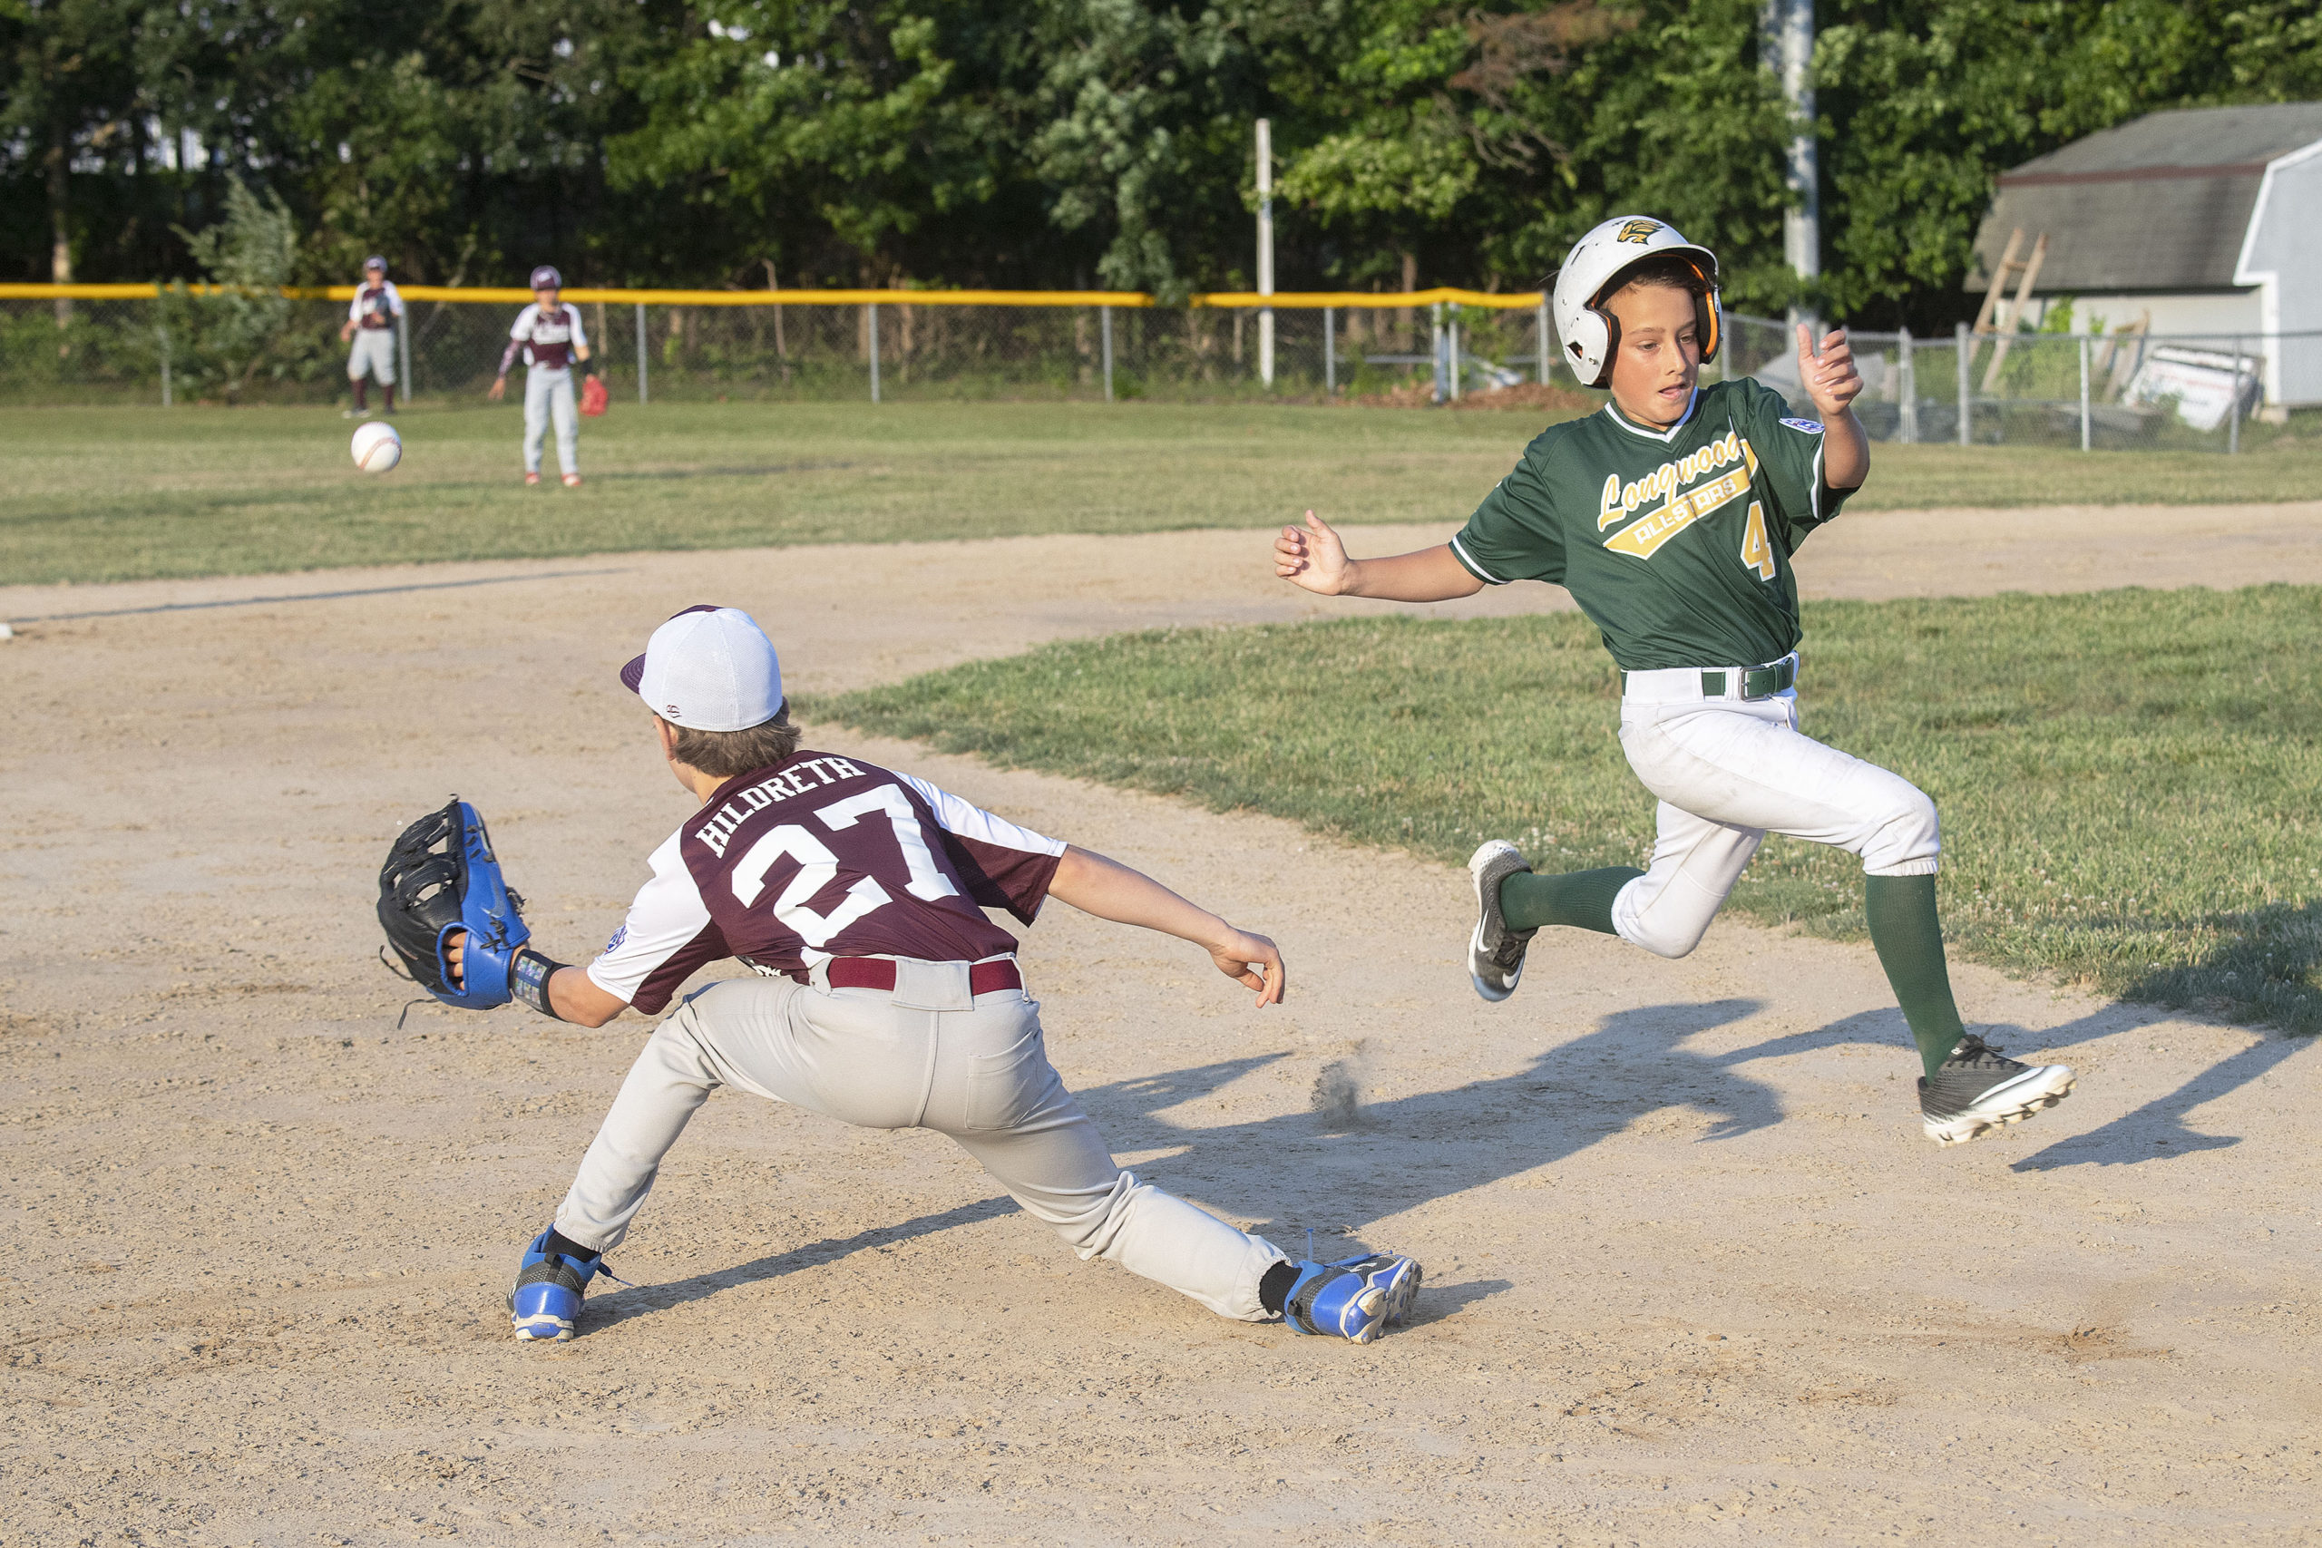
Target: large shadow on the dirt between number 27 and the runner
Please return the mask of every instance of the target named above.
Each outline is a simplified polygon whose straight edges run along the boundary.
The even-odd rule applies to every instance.
[[[1358,1100],[1340,1119],[1298,1112],[1203,1126],[1198,1107],[1184,1123],[1166,1116],[1284,1054],[1089,1086],[1080,1100],[1115,1151],[1180,1151],[1159,1167],[1138,1167],[1154,1170],[1163,1188],[1247,1209],[1252,1167],[1263,1167],[1291,1218],[1259,1230],[1296,1235],[1312,1225],[1351,1239],[1368,1221],[1551,1165],[1658,1112],[1707,1116],[1707,1128],[1695,1121],[1695,1140],[1781,1121],[1772,1086],[1735,1068],[1758,1054],[1681,1047],[1758,1010],[1758,1000],[1709,1000],[1614,1012],[1586,1037],[1535,1056],[1521,1075]],[[1358,1068],[1354,1075],[1361,1079]],[[1293,1246],[1291,1237],[1275,1239]]]

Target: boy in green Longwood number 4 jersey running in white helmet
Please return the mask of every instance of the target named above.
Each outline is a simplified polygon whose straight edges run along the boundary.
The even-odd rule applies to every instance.
[[[1621,666],[1621,750],[1658,808],[1653,863],[1535,875],[1493,840],[1474,852],[1468,972],[1486,1000],[1523,977],[1549,924],[1686,956],[1767,833],[1862,856],[1865,910],[1925,1075],[1937,1144],[2064,1100],[2064,1065],[2002,1058],[1960,1023],[1934,907],[1934,803],[1911,782],[1797,729],[1790,555],[1869,473],[1846,332],[1797,330],[1820,420],[1755,381],[1700,385],[1718,350],[1718,260],[1665,220],[1605,220],[1551,297],[1567,364],[1611,388],[1600,413],[1542,432],[1437,548],[1349,559],[1314,513],[1275,541],[1275,573],[1324,596],[1442,601],[1486,585],[1567,587]]]

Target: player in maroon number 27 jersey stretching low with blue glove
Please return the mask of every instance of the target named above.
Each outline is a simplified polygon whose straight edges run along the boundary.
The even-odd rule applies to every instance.
[[[762,975],[711,984],[655,1028],[555,1223],[522,1253],[509,1300],[515,1337],[574,1334],[604,1253],[629,1235],[662,1156],[717,1086],[861,1128],[945,1133],[1082,1258],[1110,1258],[1221,1316],[1279,1316],[1356,1344],[1409,1316],[1421,1279],[1409,1258],[1293,1263],[1115,1165],[1047,1063],[1015,938],[985,910],[1031,924],[1054,896],[1177,935],[1261,1007],[1282,1000],[1275,942],[926,780],[801,750],[773,645],[736,608],[678,613],[622,682],[652,710],[662,757],[701,808],[652,852],[652,880],[594,963],[567,968],[525,945],[481,822],[450,854],[467,856],[464,891],[483,912],[425,924],[450,866],[423,852],[427,822],[471,815],[457,801],[413,824],[381,877],[390,940],[453,1005],[513,996],[604,1026],[632,1005],[659,1012],[692,972],[727,956]],[[439,965],[444,982],[430,982]]]

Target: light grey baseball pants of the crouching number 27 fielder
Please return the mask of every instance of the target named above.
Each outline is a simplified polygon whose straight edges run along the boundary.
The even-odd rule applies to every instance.
[[[597,1251],[620,1246],[685,1121],[711,1091],[736,1086],[841,1123],[950,1135],[1084,1260],[1110,1258],[1219,1316],[1265,1321],[1259,1279],[1284,1253],[1115,1165],[1047,1063],[1036,1000],[1019,989],[968,996],[966,963],[899,970],[894,991],[727,979],[694,993],[622,1082],[557,1230]]]

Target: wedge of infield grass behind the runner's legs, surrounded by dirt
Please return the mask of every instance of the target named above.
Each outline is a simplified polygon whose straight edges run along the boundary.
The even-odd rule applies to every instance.
[[[2322,1030],[2322,587],[1809,603],[1804,726],[1944,815],[1953,947]],[[808,706],[1001,764],[1461,863],[1644,863],[1653,803],[1577,615],[1173,629]],[[1774,838],[1732,907],[1860,938],[1860,863]]]

